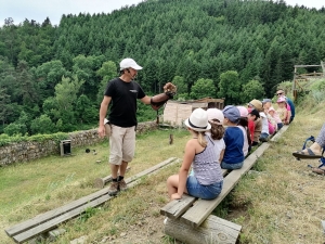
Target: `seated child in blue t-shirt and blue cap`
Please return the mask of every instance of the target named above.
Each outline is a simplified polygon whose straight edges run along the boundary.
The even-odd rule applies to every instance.
[[[237,127],[240,119],[239,110],[236,106],[227,105],[222,111],[224,120],[223,125],[227,126],[224,132],[225,150],[221,168],[238,169],[244,164],[244,134]]]

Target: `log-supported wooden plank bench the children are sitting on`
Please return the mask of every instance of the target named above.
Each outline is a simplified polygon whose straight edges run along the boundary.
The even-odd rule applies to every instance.
[[[222,191],[217,198],[208,201],[184,195],[164,206],[160,214],[167,217],[165,233],[186,244],[236,243],[242,227],[211,213],[269,146],[270,143],[261,144],[245,159],[240,169],[230,171],[224,177]]]

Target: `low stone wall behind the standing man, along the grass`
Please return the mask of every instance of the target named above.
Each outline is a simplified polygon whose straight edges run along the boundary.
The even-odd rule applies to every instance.
[[[136,133],[157,129],[156,121],[140,123]],[[92,145],[106,139],[100,139],[96,129],[69,133],[70,147]],[[28,141],[0,146],[0,166],[18,162],[28,162],[51,154],[61,154],[61,141],[49,140],[44,142]]]

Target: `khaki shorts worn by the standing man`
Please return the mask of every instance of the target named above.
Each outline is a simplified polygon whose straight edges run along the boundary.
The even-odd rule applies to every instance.
[[[112,134],[109,137],[109,163],[120,165],[121,162],[131,162],[135,152],[135,126],[119,127],[112,126]]]

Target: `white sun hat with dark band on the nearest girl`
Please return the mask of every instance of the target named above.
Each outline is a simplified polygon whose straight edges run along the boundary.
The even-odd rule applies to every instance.
[[[195,131],[207,131],[211,129],[211,125],[208,121],[208,113],[203,108],[193,111],[184,124]]]

